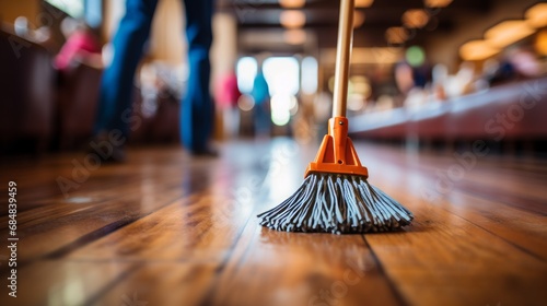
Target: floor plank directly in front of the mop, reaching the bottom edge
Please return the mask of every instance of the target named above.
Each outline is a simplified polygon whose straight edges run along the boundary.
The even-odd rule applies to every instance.
[[[361,235],[247,224],[205,305],[399,305]]]

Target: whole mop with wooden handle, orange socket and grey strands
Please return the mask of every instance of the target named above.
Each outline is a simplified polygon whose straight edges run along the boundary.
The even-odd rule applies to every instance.
[[[302,186],[276,208],[258,215],[260,225],[286,232],[333,234],[398,229],[412,213],[366,179],[348,137],[346,103],[353,37],[354,0],[341,0],[333,118]]]

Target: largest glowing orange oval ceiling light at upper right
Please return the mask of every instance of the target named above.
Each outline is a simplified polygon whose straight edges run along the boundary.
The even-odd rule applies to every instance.
[[[535,32],[525,21],[508,20],[490,27],[485,33],[485,38],[493,47],[503,48]]]

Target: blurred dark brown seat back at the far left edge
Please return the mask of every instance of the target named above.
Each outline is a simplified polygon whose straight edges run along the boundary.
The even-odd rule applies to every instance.
[[[42,46],[0,31],[0,153],[44,152],[54,131],[51,55]]]

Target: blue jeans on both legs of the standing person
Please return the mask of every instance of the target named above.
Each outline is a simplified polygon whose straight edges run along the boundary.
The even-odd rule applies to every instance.
[[[150,35],[158,0],[126,0],[126,14],[114,37],[114,58],[101,81],[95,133],[120,130],[129,134],[135,71]],[[213,105],[209,93],[213,0],[185,0],[189,78],[181,107],[183,144],[206,149],[212,131]]]

